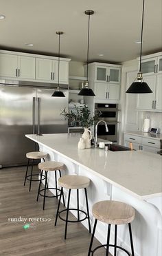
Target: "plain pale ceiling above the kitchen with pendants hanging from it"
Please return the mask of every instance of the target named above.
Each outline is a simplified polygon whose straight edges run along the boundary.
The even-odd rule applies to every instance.
[[[0,49],[57,55],[86,61],[91,16],[90,61],[121,63],[139,56],[143,0],[0,0]],[[25,45],[33,43],[33,47]],[[143,55],[162,47],[162,0],[146,0]],[[104,56],[99,56],[104,54]]]

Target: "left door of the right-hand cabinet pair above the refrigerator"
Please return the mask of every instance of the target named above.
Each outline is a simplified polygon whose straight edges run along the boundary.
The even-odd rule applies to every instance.
[[[52,64],[52,60],[36,58],[36,80],[54,82]]]

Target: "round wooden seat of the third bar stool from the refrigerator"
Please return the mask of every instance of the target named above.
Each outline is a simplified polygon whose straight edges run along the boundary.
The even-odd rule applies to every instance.
[[[65,175],[58,179],[58,184],[65,189],[84,189],[89,183],[89,178],[78,175]]]

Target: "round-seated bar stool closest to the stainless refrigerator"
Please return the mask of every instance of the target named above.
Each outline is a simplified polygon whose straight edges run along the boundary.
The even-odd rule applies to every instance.
[[[43,161],[45,161],[46,156],[47,156],[47,153],[44,153],[44,152],[41,152],[41,151],[34,151],[34,152],[26,153],[26,157],[28,158],[28,162],[27,162],[27,169],[26,169],[25,180],[24,180],[23,185],[25,186],[26,180],[30,180],[30,189],[29,189],[29,191],[31,190],[32,181],[39,181],[39,179],[32,179],[33,176],[38,176],[39,175],[39,173],[33,174],[34,160],[43,159]],[[27,175],[29,165],[30,165],[30,160],[32,160],[32,169],[31,169],[30,175]],[[45,179],[44,175],[43,175],[43,179]]]

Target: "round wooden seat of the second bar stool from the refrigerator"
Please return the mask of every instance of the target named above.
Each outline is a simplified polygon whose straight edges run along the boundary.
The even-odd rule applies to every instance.
[[[47,161],[47,162],[40,162],[38,164],[38,169],[43,171],[56,171],[64,168],[65,168],[65,165],[62,164],[62,162]]]

